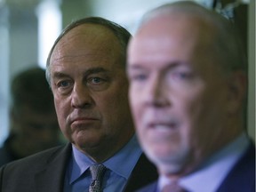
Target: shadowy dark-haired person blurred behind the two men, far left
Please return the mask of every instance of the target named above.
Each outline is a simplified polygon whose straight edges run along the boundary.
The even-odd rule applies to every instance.
[[[11,83],[10,133],[0,148],[0,166],[60,145],[52,91],[43,68],[28,68]]]

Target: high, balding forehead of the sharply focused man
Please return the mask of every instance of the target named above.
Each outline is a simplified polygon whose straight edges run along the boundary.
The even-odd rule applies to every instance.
[[[120,53],[120,44],[110,29],[98,24],[82,24],[72,28],[56,44],[50,62],[63,57],[75,58],[81,55]],[[119,52],[118,52],[119,51]],[[117,52],[116,55],[115,52]]]

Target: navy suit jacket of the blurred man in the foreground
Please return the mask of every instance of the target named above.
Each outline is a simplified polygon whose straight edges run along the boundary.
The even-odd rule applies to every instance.
[[[137,192],[158,192],[157,181],[140,188]],[[228,173],[216,192],[255,192],[255,146],[253,144]]]

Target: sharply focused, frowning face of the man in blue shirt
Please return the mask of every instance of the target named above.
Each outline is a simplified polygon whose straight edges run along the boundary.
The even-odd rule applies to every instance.
[[[62,37],[52,53],[60,129],[89,156],[102,154],[102,148],[113,153],[134,132],[121,50],[107,28],[84,24]]]

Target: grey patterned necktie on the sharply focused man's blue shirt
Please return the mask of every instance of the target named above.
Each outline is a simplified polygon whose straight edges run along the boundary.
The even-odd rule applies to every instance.
[[[90,172],[92,174],[92,182],[89,187],[89,192],[102,192],[101,180],[104,173],[106,172],[106,167],[103,164],[95,164],[90,166]]]

